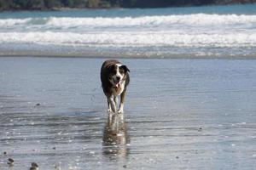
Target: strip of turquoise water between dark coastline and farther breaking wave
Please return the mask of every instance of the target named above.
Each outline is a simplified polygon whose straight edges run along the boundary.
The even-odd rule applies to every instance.
[[[256,14],[256,4],[227,5],[227,6],[203,6],[180,8],[113,8],[113,9],[81,9],[64,11],[25,11],[3,12],[0,18],[29,18],[29,17],[125,17],[125,16],[152,16],[170,14]]]

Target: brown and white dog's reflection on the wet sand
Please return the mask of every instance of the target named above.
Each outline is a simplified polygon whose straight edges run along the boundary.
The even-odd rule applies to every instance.
[[[113,156],[127,156],[130,143],[123,114],[108,114],[103,133],[103,153]]]

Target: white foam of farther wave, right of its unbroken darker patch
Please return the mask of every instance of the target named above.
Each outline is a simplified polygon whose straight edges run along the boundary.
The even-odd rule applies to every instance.
[[[50,26],[172,26],[256,24],[256,15],[184,14],[137,18],[51,18]]]

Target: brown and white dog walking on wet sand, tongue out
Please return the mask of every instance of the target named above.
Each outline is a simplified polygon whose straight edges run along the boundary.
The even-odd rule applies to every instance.
[[[118,60],[106,60],[102,64],[101,80],[103,92],[108,99],[108,112],[123,113],[126,88],[130,82],[129,69]],[[118,96],[121,101],[118,105]]]

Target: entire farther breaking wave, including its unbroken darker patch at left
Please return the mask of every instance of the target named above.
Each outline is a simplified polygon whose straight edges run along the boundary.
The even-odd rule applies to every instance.
[[[256,15],[237,14],[180,14],[142,17],[96,17],[96,18],[26,18],[2,19],[0,26],[49,26],[49,27],[108,27],[108,26],[172,26],[172,25],[253,25]]]

